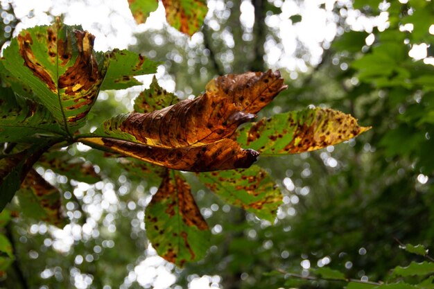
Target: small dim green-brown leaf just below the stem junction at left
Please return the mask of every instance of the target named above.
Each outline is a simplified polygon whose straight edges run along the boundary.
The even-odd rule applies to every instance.
[[[46,152],[37,161],[37,164],[44,168],[50,168],[53,172],[64,175],[68,179],[75,179],[78,182],[95,184],[101,181],[101,176],[96,173],[94,166],[89,161],[78,157],[72,157],[65,151]]]

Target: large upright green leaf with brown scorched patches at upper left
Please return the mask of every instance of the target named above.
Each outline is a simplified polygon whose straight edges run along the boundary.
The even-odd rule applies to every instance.
[[[83,125],[103,81],[93,46],[93,35],[58,20],[21,31],[3,51],[2,61],[72,133]]]

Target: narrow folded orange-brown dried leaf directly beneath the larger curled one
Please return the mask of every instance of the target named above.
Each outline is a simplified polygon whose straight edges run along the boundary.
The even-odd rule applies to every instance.
[[[116,139],[86,138],[79,141],[158,166],[193,172],[248,168],[256,161],[258,155],[254,150],[244,150],[230,139],[223,139],[207,146],[169,149],[153,148]]]

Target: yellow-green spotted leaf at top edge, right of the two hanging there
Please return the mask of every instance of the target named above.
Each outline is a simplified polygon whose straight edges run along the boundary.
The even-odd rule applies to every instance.
[[[162,0],[168,24],[187,35],[196,33],[207,15],[206,0]]]

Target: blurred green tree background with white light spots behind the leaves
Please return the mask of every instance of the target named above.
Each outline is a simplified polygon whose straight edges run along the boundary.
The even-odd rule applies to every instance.
[[[252,1],[257,2],[261,1]],[[267,19],[281,13],[281,1],[263,2],[257,6],[263,9],[255,15]],[[303,1],[286,2],[304,5]],[[267,40],[283,47],[278,31],[265,22],[256,21],[253,27],[241,23],[241,1],[213,3],[218,8],[211,10],[202,32],[193,35],[192,41],[164,28],[137,35],[138,42],[132,47],[164,61],[160,80],[169,86],[174,83],[181,98],[200,94],[217,74],[268,67],[263,54]],[[411,261],[432,267],[422,253],[433,249],[434,238],[434,67],[424,63],[432,62],[432,46],[426,60],[414,60],[408,53],[415,44],[433,43],[428,33],[434,22],[433,3],[355,1],[359,19],[374,21],[388,13],[387,28],[366,30],[354,30],[349,24],[348,15],[354,12],[351,2],[320,8],[334,16],[338,36],[331,44],[322,43],[322,58],[317,63],[309,62],[304,56],[309,55],[306,44],[296,40],[293,58],[303,61],[307,69],[272,67],[293,80],[263,115],[321,103],[351,113],[374,128],[357,140],[318,152],[260,159],[259,165],[278,180],[284,193],[274,225],[223,204],[195,181],[195,175],[185,175],[213,233],[212,245],[204,260],[183,270],[174,268],[155,256],[146,240],[144,209],[157,190],[158,178],[144,178],[130,164],[124,170],[103,152],[89,154],[74,145],[69,154],[92,162],[103,181],[85,184],[65,180],[42,165],[37,169],[60,186],[70,224],[60,230],[14,218],[3,227],[15,252],[15,265],[2,277],[1,286],[165,288],[158,284],[167,272],[173,272],[177,280],[172,288],[188,288],[202,276],[225,289],[342,288],[345,283],[327,280],[342,274],[349,279],[402,280],[432,288],[431,271],[423,277],[404,277],[402,271],[401,276],[391,277],[390,270]],[[306,21],[302,11],[295,15],[301,15],[298,24]],[[299,20],[293,17],[290,25]],[[413,24],[413,32],[403,29],[407,23]],[[373,42],[366,40],[368,36]],[[86,129],[131,110],[133,94],[103,92]],[[3,217],[0,220],[3,224]],[[406,245],[411,248],[408,252],[419,253],[409,255],[399,249],[400,243],[420,244],[424,249]],[[318,272],[319,268],[330,270]],[[276,270],[276,274],[264,274]],[[295,279],[281,272],[319,279]],[[166,281],[170,286],[170,278]],[[347,287],[361,285],[349,283]]]

